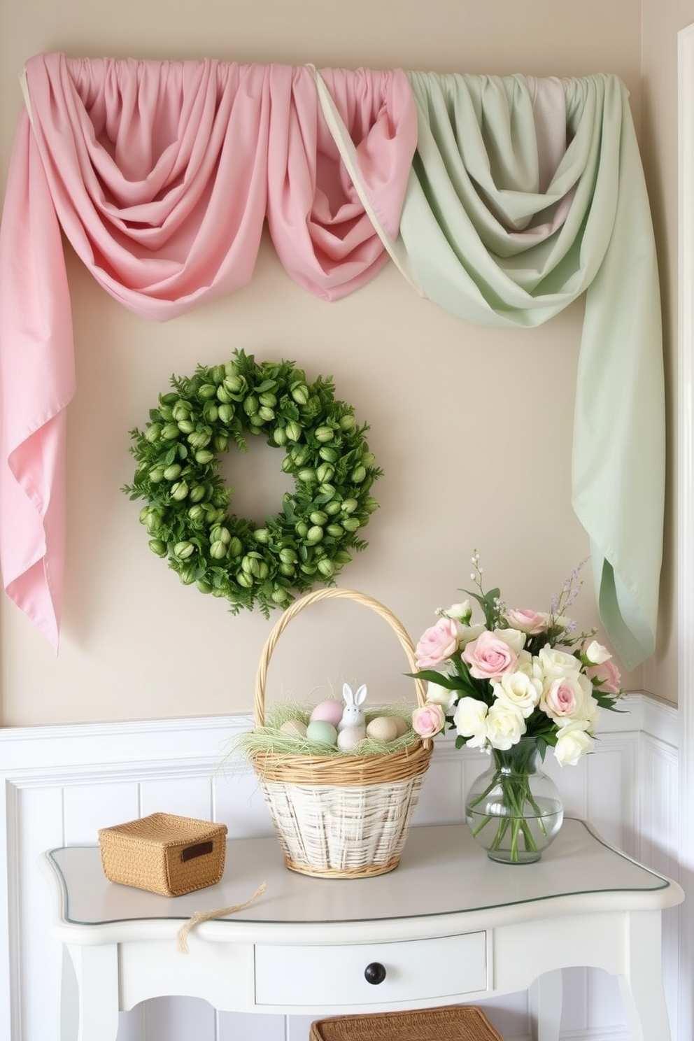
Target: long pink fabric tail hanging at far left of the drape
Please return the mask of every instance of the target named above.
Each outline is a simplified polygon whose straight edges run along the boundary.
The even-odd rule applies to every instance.
[[[5,589],[57,645],[65,547],[65,409],[75,392],[60,228],[27,120],[0,226],[0,553]]]

